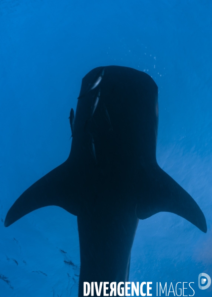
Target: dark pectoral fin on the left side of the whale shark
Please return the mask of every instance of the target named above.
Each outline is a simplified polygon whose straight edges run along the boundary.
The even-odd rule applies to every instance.
[[[70,172],[68,160],[29,187],[7,212],[4,226],[8,227],[24,215],[44,206],[56,205],[77,215],[79,195],[76,175]]]

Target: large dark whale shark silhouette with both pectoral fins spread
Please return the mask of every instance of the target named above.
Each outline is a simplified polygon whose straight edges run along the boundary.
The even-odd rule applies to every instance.
[[[158,114],[158,87],[147,73],[92,69],[82,80],[76,114],[71,109],[67,160],[29,187],[6,215],[5,227],[48,205],[77,216],[79,297],[84,282],[128,280],[139,219],[171,212],[207,232],[198,204],[157,163]]]

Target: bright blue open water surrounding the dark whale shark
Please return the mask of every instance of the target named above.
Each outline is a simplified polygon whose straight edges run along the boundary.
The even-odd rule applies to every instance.
[[[82,78],[101,65],[153,77],[158,163],[208,224],[204,234],[171,213],[140,221],[130,281],[153,282],[153,297],[156,282],[194,282],[195,297],[212,296],[212,286],[198,288],[200,273],[212,277],[211,18],[210,0],[1,0],[0,297],[78,294],[76,217],[51,206],[8,228],[3,221],[24,190],[68,157],[70,109]]]

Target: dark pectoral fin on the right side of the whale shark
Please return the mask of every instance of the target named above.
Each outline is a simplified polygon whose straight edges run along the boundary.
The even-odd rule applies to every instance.
[[[207,232],[206,218],[195,200],[159,166],[142,181],[141,196],[137,199],[136,214],[146,219],[158,212],[175,213]]]

